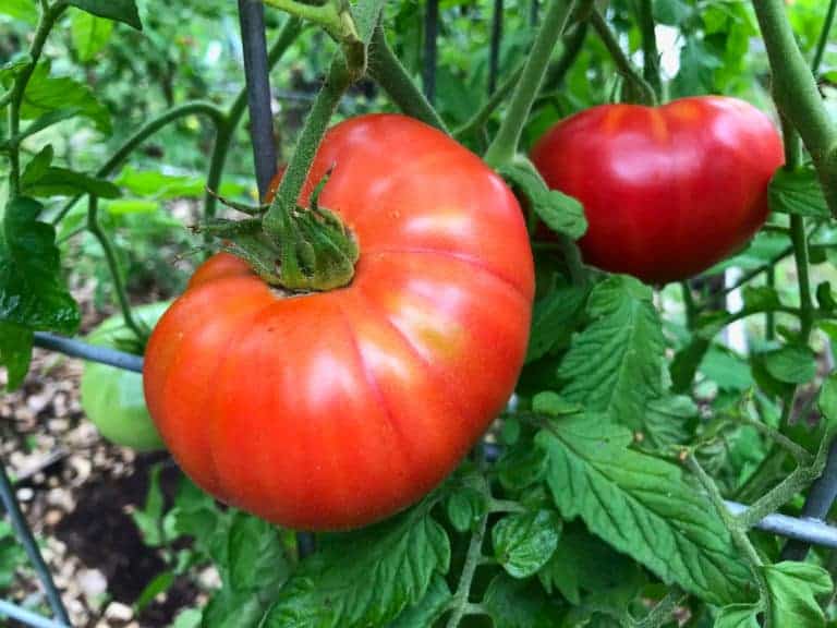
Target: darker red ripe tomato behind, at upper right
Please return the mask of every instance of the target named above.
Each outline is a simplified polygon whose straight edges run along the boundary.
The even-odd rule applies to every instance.
[[[771,120],[735,98],[604,105],[532,150],[546,183],[584,205],[584,261],[650,283],[686,279],[743,246],[784,161]]]

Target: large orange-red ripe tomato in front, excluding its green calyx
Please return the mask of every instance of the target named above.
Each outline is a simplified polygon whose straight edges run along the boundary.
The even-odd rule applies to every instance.
[[[504,408],[534,291],[520,207],[476,156],[402,116],[326,135],[303,190],[361,255],[283,298],[219,254],[155,329],[145,394],[195,482],[279,524],[348,529],[437,485]]]

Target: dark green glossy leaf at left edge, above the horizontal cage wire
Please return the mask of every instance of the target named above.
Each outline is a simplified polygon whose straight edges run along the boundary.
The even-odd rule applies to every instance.
[[[61,281],[56,230],[38,221],[43,206],[26,196],[5,207],[0,233],[0,322],[72,335],[75,301]]]

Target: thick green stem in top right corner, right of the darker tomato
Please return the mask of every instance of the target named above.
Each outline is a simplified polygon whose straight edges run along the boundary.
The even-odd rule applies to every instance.
[[[801,135],[837,217],[837,126],[797,45],[784,0],[753,0],[753,8],[767,49],[776,105]]]

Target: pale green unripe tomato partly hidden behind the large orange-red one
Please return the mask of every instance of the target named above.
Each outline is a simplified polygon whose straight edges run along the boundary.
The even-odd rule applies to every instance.
[[[150,303],[134,307],[137,323],[153,329],[171,302]],[[122,316],[111,316],[86,338],[90,345],[126,350],[136,337]],[[153,451],[165,446],[154,426],[143,395],[143,376],[114,366],[85,362],[82,375],[82,409],[99,433],[122,447]]]

